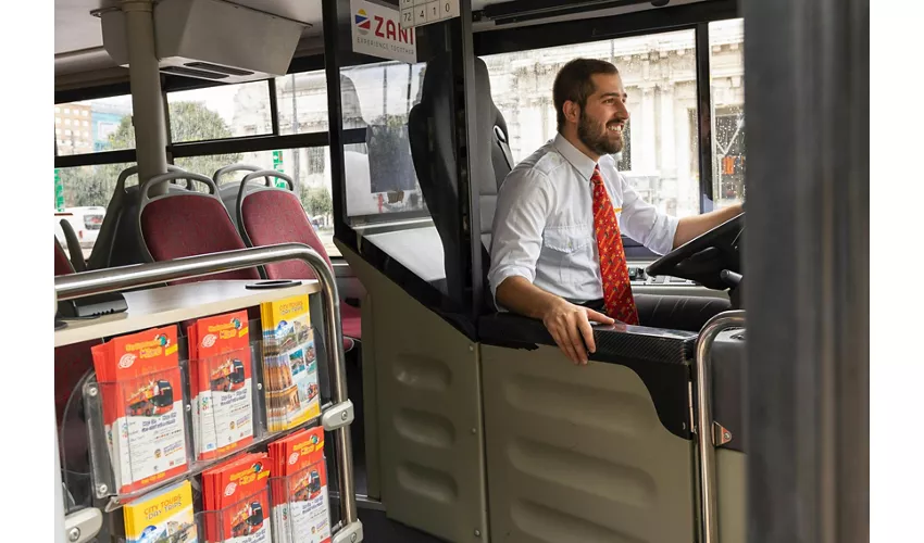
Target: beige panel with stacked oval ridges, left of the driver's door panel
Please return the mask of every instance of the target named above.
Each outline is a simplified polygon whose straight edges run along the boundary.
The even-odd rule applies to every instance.
[[[363,340],[372,337],[374,357],[370,367],[364,345],[363,370],[374,370],[375,404],[366,405],[376,414],[366,425],[378,426],[387,515],[448,541],[487,541],[477,350],[378,270],[347,258],[372,300]]]

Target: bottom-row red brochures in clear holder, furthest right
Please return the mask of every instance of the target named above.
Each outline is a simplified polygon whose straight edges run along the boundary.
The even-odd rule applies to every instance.
[[[323,457],[286,477],[271,477],[275,543],[330,540],[330,501]]]

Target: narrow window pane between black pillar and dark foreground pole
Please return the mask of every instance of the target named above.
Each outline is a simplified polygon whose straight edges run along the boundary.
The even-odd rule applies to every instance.
[[[745,22],[709,24],[712,79],[712,193],[716,207],[745,197]]]

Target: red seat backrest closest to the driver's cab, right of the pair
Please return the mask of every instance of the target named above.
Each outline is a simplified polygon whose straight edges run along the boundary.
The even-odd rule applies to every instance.
[[[241,205],[245,231],[254,247],[304,243],[314,249],[334,269],[324,243],[308,220],[298,198],[287,190],[261,190],[249,194]],[[274,262],[264,266],[267,279],[316,279],[302,261]]]

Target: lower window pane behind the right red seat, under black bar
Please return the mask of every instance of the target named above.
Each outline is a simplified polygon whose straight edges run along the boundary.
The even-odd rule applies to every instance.
[[[229,164],[248,164],[261,169],[276,169],[288,174],[295,181],[305,214],[315,225],[317,237],[328,256],[340,256],[334,245],[334,202],[330,192],[330,153],[327,147],[257,151],[229,155],[191,156],[176,159],[177,166],[212,177]],[[232,172],[218,180],[221,185],[240,182],[249,172]]]

